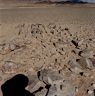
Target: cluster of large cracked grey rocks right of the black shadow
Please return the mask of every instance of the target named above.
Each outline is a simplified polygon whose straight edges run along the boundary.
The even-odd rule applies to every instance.
[[[35,79],[35,83],[31,82],[29,85],[31,92],[42,88],[35,96],[75,96],[75,87],[57,71],[43,69],[38,72],[37,79],[37,82]]]

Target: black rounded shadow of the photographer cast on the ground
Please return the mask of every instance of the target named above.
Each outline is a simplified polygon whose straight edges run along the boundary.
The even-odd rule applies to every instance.
[[[3,96],[34,96],[25,89],[28,82],[28,78],[23,74],[14,76],[1,86]]]

